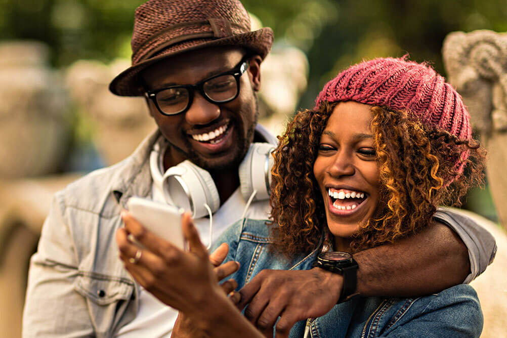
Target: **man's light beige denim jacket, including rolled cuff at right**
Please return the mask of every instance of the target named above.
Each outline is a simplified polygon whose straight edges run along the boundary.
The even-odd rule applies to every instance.
[[[123,226],[120,212],[127,200],[151,192],[148,162],[159,136],[153,133],[129,158],[86,175],[54,196],[30,262],[24,337],[114,336],[135,318],[139,285],[118,258],[115,233]],[[450,221],[465,244],[467,239],[472,243],[467,247],[475,277],[489,261],[483,252],[490,255],[495,244],[484,240],[487,231],[473,220],[460,217]],[[466,230],[456,227],[467,222]]]

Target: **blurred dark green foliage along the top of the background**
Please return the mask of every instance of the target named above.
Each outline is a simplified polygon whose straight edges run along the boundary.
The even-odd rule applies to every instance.
[[[184,0],[182,0],[184,1]],[[130,56],[133,13],[142,0],[0,0],[0,39],[47,43],[52,63]],[[455,30],[507,31],[507,0],[244,0],[278,45],[304,50],[311,65],[307,107],[340,69],[409,54],[444,73],[441,48]],[[276,46],[275,46],[276,48]]]

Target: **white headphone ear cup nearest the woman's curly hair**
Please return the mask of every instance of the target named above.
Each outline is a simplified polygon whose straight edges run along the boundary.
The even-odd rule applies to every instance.
[[[275,146],[271,143],[252,143],[245,158],[239,165],[240,190],[243,199],[250,198],[257,191],[254,201],[269,199],[271,194],[271,152]]]

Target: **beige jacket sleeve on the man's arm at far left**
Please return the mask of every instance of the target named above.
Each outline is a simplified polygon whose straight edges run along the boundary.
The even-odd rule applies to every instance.
[[[91,336],[85,298],[73,283],[78,268],[73,241],[62,217],[63,203],[53,198],[38,252],[30,261],[23,311],[23,337]],[[73,334],[71,334],[73,333]]]

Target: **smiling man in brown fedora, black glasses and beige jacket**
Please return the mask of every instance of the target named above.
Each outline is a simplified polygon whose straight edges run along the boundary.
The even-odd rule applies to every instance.
[[[250,32],[238,0],[150,0],[136,10],[132,67],[110,89],[145,96],[158,130],[126,160],[56,194],[31,260],[24,336],[170,335],[177,313],[134,282],[118,258],[121,211],[134,195],[165,201],[158,179],[190,160],[210,173],[222,201],[213,237],[241,218],[247,202],[239,193],[238,166],[252,141],[274,142],[256,126],[261,63],[272,40],[269,28]],[[228,94],[218,95],[221,88]],[[267,212],[267,201],[253,202],[248,217],[266,219]],[[357,290],[423,294],[484,271],[494,254],[491,237],[457,213],[441,213],[439,220],[421,235],[356,255]],[[204,241],[207,222],[196,220]],[[127,264],[143,268],[155,258],[143,249]],[[311,272],[314,280],[343,284],[338,274]],[[332,290],[323,298],[336,304],[341,287]],[[322,306],[317,312],[329,310]],[[261,310],[250,310],[253,321]]]

